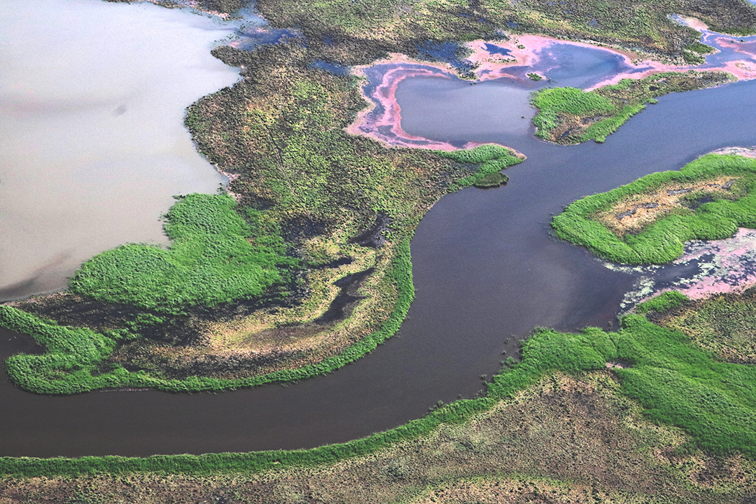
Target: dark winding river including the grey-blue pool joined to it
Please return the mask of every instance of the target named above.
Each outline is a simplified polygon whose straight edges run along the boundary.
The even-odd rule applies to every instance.
[[[485,386],[481,376],[496,373],[502,352],[516,354],[516,341],[534,326],[606,327],[637,274],[612,271],[585,249],[554,240],[551,215],[581,196],[679,169],[711,150],[756,144],[756,82],[661,97],[605,144],[574,147],[533,137],[521,91],[511,81],[417,78],[399,86],[407,133],[493,141],[528,159],[507,170],[506,187],[462,190],[426,215],[412,242],[415,301],[400,333],[373,354],[322,378],[222,394],[44,397],[4,376],[0,456],[146,456],[348,441],[423,416],[438,400],[472,397]],[[502,122],[507,111],[511,119]],[[0,332],[2,359],[27,345]]]

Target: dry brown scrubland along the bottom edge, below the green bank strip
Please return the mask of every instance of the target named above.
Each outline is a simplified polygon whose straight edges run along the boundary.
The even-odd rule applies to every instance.
[[[685,441],[677,429],[643,419],[637,404],[618,394],[612,373],[553,373],[463,423],[331,464],[274,464],[259,473],[5,476],[0,502],[742,502],[756,465],[738,456],[678,454]]]

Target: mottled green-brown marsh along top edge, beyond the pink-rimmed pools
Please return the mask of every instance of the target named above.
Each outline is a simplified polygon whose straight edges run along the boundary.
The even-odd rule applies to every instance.
[[[670,14],[697,17],[717,31],[754,32],[756,27],[756,12],[742,0],[260,0],[256,5],[274,26],[301,29],[318,57],[345,64],[367,64],[389,51],[419,55],[418,46],[427,41],[496,39],[497,30],[594,40],[681,60],[683,48],[700,34],[675,23]]]

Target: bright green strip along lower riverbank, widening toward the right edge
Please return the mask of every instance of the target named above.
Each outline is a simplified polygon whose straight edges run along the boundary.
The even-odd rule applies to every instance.
[[[312,466],[378,450],[396,441],[428,434],[442,422],[464,422],[496,400],[534,383],[544,374],[615,368],[621,391],[638,400],[657,422],[683,428],[704,450],[756,457],[756,367],[716,362],[680,332],[656,326],[640,315],[621,320],[619,332],[587,328],[578,333],[537,329],[522,345],[522,361],[505,367],[488,385],[487,397],[458,400],[380,434],[312,450],[220,453],[202,456],[0,459],[0,473],[24,476],[124,472],[265,471],[287,465]]]

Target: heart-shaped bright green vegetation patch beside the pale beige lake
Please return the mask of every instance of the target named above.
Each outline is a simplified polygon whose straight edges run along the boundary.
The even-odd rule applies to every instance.
[[[277,234],[253,233],[236,207],[227,195],[181,198],[166,215],[170,249],[132,244],[95,255],[71,279],[71,291],[173,315],[259,297],[299,261],[285,255]]]

